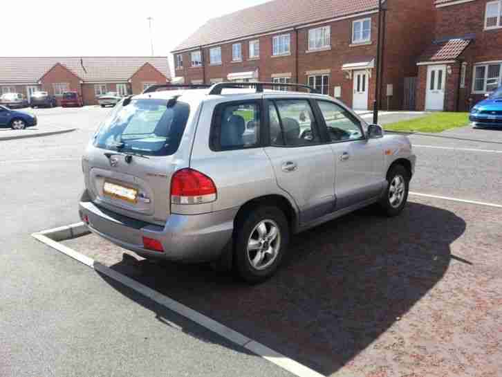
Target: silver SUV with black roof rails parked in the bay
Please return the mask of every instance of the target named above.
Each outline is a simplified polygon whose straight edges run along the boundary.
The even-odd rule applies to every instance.
[[[408,138],[308,87],[245,85],[122,100],[82,158],[89,229],[145,258],[211,261],[257,283],[297,232],[373,203],[402,211]]]

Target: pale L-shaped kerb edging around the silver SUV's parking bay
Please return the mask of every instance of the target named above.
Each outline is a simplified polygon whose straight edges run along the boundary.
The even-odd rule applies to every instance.
[[[68,246],[63,245],[58,241],[64,241],[65,239],[72,239],[75,237],[80,237],[82,235],[89,234],[89,230],[85,226],[84,223],[76,223],[70,226],[63,226],[60,228],[55,228],[51,230],[45,230],[44,232],[33,233],[32,237],[37,239],[38,241],[45,243],[47,246],[54,248],[55,250],[62,252],[64,255],[71,257],[80,263],[85,264],[93,268],[97,273],[102,275],[106,275],[111,279],[120,282],[124,286],[131,288],[133,291],[140,293],[140,295],[144,295],[148,297],[150,300],[165,306],[167,309],[182,315],[183,317],[192,320],[196,324],[199,324],[210,331],[220,335],[221,337],[230,340],[231,342],[238,344],[239,346],[252,351],[257,354],[261,358],[264,358],[270,362],[273,362],[275,365],[286,369],[295,376],[298,377],[324,377],[322,374],[317,373],[313,369],[306,367],[305,365],[301,365],[299,362],[287,358],[283,356],[281,353],[278,353],[265,345],[256,342],[245,335],[238,333],[230,329],[230,327],[226,327],[224,324],[216,322],[211,318],[203,315],[202,313],[198,313],[198,311],[194,311],[194,309],[190,309],[188,306],[181,304],[166,295],[162,295],[154,289],[151,289],[144,284],[140,284],[136,282],[136,280],[127,277],[126,275],[122,275],[111,268],[100,264],[94,259],[87,257],[86,255],[81,254],[73,250],[72,248],[68,248]]]

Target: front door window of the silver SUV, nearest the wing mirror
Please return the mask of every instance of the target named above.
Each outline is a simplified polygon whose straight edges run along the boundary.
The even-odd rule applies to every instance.
[[[318,101],[331,141],[360,140],[361,123],[343,107],[333,102]]]

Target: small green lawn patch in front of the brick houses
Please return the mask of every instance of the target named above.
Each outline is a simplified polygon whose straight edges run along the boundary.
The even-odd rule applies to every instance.
[[[384,125],[387,131],[441,132],[469,124],[469,113],[434,113],[422,118]]]

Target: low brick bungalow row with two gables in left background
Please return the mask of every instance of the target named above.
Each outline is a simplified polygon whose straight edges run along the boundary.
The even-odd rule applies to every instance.
[[[78,91],[84,104],[115,91],[138,94],[151,84],[170,82],[167,57],[0,57],[0,94],[35,91],[61,98]]]

